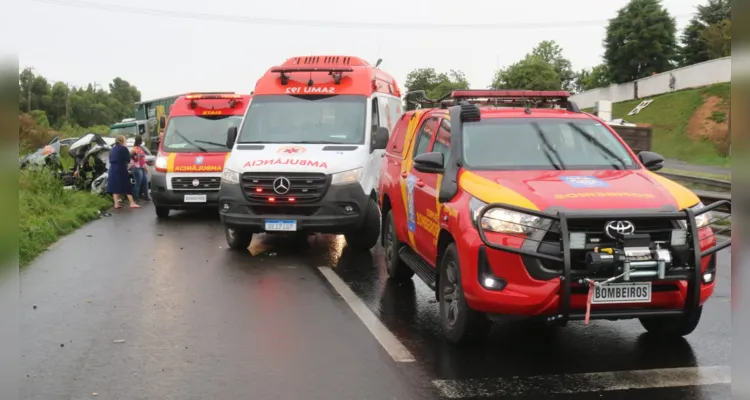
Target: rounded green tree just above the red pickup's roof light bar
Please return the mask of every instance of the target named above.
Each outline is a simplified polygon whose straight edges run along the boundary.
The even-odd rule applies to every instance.
[[[560,76],[544,58],[527,55],[523,60],[500,69],[492,80],[494,89],[560,90]]]

